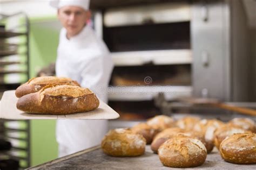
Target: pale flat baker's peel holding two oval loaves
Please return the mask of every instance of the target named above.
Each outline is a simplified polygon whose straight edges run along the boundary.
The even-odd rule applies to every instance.
[[[119,114],[100,101],[96,110],[69,115],[28,114],[16,108],[15,90],[5,91],[1,100],[0,118],[3,119],[116,119]]]

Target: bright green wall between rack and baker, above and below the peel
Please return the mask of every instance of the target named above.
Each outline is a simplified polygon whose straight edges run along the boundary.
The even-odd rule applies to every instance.
[[[56,60],[59,30],[56,17],[30,18],[30,77]],[[57,158],[55,120],[31,120],[31,166]]]

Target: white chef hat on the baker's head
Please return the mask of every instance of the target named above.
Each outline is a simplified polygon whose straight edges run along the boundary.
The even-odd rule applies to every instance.
[[[50,5],[53,8],[62,8],[63,6],[79,6],[84,10],[89,10],[90,0],[51,0]]]

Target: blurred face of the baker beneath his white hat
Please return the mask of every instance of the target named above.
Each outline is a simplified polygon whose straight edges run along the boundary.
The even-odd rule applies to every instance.
[[[58,10],[58,18],[67,31],[67,36],[76,36],[90,19],[91,12],[78,6],[63,6]]]

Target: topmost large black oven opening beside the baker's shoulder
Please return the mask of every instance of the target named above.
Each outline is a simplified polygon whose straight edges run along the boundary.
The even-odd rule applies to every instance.
[[[190,22],[104,27],[111,52],[189,49]]]

